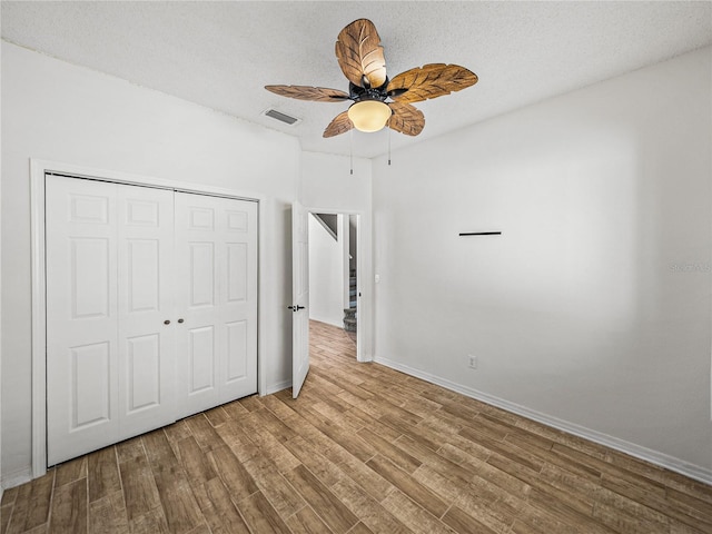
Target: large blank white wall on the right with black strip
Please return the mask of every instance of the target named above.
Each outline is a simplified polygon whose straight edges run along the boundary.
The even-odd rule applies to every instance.
[[[711,62],[375,160],[376,359],[712,482]]]

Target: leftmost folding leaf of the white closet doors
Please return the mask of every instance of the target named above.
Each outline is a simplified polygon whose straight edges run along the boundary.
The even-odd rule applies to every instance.
[[[49,465],[119,438],[116,186],[48,177]]]

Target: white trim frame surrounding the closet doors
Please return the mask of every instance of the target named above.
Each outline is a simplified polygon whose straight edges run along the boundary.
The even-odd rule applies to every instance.
[[[191,192],[249,200],[257,202],[257,392],[263,395],[267,390],[266,373],[261,347],[265,346],[263,325],[267,324],[263,296],[266,295],[265,277],[261,266],[267,265],[264,243],[265,196],[251,191],[225,189],[201,184],[187,184],[127,172],[96,169],[90,167],[30,159],[30,248],[32,280],[32,473],[37,478],[47,473],[47,273],[44,250],[44,184],[47,175],[62,175],[72,178],[85,178],[129,186],[170,189],[179,192]]]

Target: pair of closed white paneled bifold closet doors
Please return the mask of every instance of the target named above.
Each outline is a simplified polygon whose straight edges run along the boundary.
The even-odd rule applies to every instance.
[[[257,392],[257,202],[46,178],[48,465]]]

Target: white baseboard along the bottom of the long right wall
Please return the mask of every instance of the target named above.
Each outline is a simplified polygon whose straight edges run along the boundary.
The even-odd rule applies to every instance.
[[[589,439],[600,445],[605,445],[606,447],[611,447],[615,451],[620,451],[636,458],[644,459],[661,467],[665,467],[670,471],[674,471],[675,473],[680,473],[681,475],[689,476],[690,478],[694,478],[695,481],[712,485],[712,469],[708,469],[706,467],[690,464],[680,458],[675,458],[674,456],[670,456],[668,454],[660,453],[657,451],[653,451],[651,448],[646,448],[614,436],[609,436],[607,434],[592,431],[591,428],[586,428],[584,426],[580,426],[574,423],[570,423],[567,421],[543,414],[541,412],[536,412],[534,409],[527,408],[526,406],[511,403],[503,398],[495,397],[493,395],[473,389],[467,386],[463,386],[462,384],[456,384],[448,379],[432,375],[431,373],[425,373],[423,370],[400,364],[398,362],[394,362],[388,358],[376,356],[374,358],[374,362],[405,373],[406,375],[422,378],[432,384],[437,384],[438,386],[443,386],[453,392],[461,393],[467,397],[482,400],[483,403],[496,406],[497,408],[506,409],[507,412],[521,415],[522,417],[526,417],[527,419],[536,421],[537,423],[542,423],[546,426],[551,426],[553,428],[573,434],[578,437],[583,437],[584,439]]]

